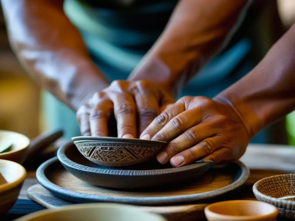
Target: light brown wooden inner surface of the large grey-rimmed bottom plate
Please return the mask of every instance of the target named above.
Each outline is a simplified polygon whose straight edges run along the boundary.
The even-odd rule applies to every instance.
[[[77,192],[89,194],[107,194],[109,196],[120,197],[162,197],[162,196],[180,196],[196,193],[209,192],[215,189],[226,187],[234,181],[233,175],[229,172],[211,172],[199,181],[188,185],[176,185],[173,187],[157,187],[152,189],[140,189],[140,191],[133,190],[116,190],[107,189],[90,185],[76,177],[63,168],[57,168],[54,173],[48,174],[48,179],[54,184],[71,189]]]

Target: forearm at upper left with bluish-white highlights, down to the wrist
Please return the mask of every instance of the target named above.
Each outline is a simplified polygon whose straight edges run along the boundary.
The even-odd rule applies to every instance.
[[[1,0],[1,4],[11,47],[43,89],[77,110],[108,85],[63,13],[63,0]]]

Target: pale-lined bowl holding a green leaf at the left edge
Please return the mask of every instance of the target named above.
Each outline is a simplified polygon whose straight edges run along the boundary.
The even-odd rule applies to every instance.
[[[0,154],[0,159],[22,164],[27,157],[30,139],[20,133],[0,130],[0,143],[1,141],[11,142],[12,146],[8,152]]]

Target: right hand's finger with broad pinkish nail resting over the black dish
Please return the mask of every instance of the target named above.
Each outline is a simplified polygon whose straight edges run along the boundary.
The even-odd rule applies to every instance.
[[[215,150],[220,148],[223,143],[223,139],[218,136],[204,139],[195,146],[173,156],[170,163],[175,167],[187,165],[201,157],[212,154]]]

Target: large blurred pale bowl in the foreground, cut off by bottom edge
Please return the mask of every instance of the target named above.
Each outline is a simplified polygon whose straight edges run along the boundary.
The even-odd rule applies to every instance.
[[[42,210],[14,221],[167,221],[160,215],[135,206],[113,203],[89,203]]]

